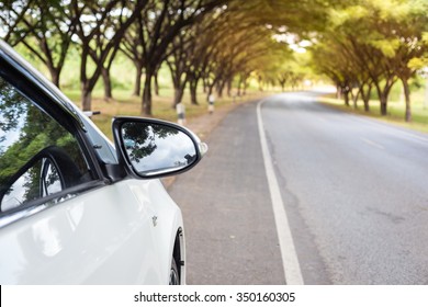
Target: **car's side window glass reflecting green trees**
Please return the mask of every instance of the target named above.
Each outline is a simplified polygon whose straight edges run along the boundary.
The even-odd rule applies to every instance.
[[[0,77],[0,209],[91,181],[77,138]]]

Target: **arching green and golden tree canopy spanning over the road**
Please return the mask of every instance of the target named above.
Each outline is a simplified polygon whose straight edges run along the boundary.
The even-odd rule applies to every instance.
[[[153,80],[171,72],[172,106],[185,88],[210,95],[260,88],[296,87],[308,73],[299,53],[309,50],[314,71],[329,78],[349,104],[369,110],[375,90],[386,114],[397,81],[410,121],[409,80],[427,66],[428,2],[424,0],[7,0],[0,3],[0,36],[25,46],[60,84],[70,46],[79,49],[83,110],[102,78],[112,96],[110,69],[119,53],[135,66],[134,95],[151,114]],[[76,67],[77,68],[77,67]],[[144,77],[143,91],[142,80]]]

